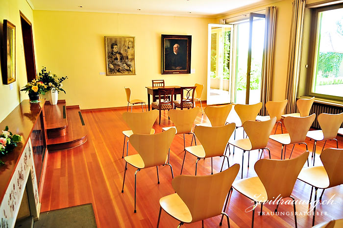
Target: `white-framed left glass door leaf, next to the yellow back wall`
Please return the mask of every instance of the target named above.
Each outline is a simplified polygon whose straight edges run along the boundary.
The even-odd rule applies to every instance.
[[[208,105],[231,102],[232,29],[233,25],[208,25]]]

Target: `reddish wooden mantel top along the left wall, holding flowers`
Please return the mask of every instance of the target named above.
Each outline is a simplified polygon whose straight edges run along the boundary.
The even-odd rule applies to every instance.
[[[0,132],[8,126],[9,131],[13,134],[19,134],[23,137],[22,142],[18,143],[12,152],[0,157],[5,163],[5,165],[0,166],[0,202],[44,103],[45,100],[39,103],[30,103],[28,100],[24,100],[0,123]]]

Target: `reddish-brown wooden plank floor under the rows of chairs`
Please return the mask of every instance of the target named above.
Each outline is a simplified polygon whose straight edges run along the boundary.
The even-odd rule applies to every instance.
[[[64,207],[80,205],[84,203],[93,203],[95,217],[98,228],[152,228],[156,227],[159,199],[163,196],[174,193],[172,189],[172,177],[168,166],[159,167],[160,184],[157,184],[155,168],[143,169],[137,174],[137,213],[134,213],[134,172],[135,169],[128,166],[125,179],[124,193],[121,193],[124,173],[123,152],[123,130],[128,127],[122,119],[122,113],[126,109],[104,110],[104,111],[83,111],[82,115],[88,128],[88,141],[74,149],[57,151],[49,153],[47,172],[43,195],[41,198],[41,211],[49,211]],[[139,112],[140,109],[134,109]],[[206,116],[199,112],[196,123],[209,122]],[[161,127],[172,126],[168,120],[167,111],[162,111],[161,126],[158,122],[154,128],[156,132],[161,132]],[[284,129],[285,132],[285,129]],[[278,127],[277,133],[281,133]],[[237,137],[243,137],[242,129],[238,129]],[[186,146],[191,143],[191,135],[186,135]],[[343,147],[343,139],[338,136],[339,147]],[[309,150],[312,151],[313,141],[306,141]],[[317,144],[316,165],[320,164],[319,154],[323,142]],[[328,141],[328,147],[335,147],[335,142]],[[325,146],[325,147],[326,147]],[[281,145],[269,140],[268,147],[271,150],[271,158],[279,159],[281,154]],[[296,145],[293,155],[297,156],[305,150],[304,145]],[[291,148],[287,150],[289,155]],[[232,148],[231,148],[232,152]],[[129,154],[136,153],[129,145]],[[180,174],[183,159],[183,137],[176,135],[171,146],[170,163],[174,175]],[[268,152],[262,157],[268,158]],[[254,172],[254,163],[258,160],[257,151],[250,152],[250,168],[247,169],[247,153],[244,159],[243,177],[256,176]],[[222,158],[214,158],[214,173],[220,171]],[[196,157],[191,154],[186,155],[183,174],[195,174]],[[235,154],[230,155],[230,164],[242,163],[242,151],[236,149]],[[226,163],[224,167],[227,167]],[[225,167],[225,168],[226,168]],[[210,175],[211,159],[201,159],[198,162],[197,175]],[[241,178],[239,172],[236,179]],[[296,181],[293,196],[296,200],[308,200],[311,187],[299,180]],[[321,191],[319,191],[321,194]],[[334,204],[318,205],[317,211],[323,215],[316,216],[316,224],[329,221],[331,219],[343,218],[343,186],[333,187],[325,190],[323,200],[329,200],[332,197]],[[245,198],[237,191],[233,191],[230,196],[226,213],[230,217],[231,228],[249,228],[251,226],[251,212],[245,212],[245,209],[251,206],[250,200]],[[266,205],[263,207],[265,213],[272,212],[275,205]],[[296,205],[298,212],[306,212],[309,209],[308,204]],[[264,215],[259,216],[256,209],[255,228],[289,228],[294,227],[294,216],[287,212],[293,211],[292,205],[280,205],[279,212],[284,215]],[[326,215],[324,215],[326,213]],[[62,218],[61,218],[62,219]],[[85,218],[87,219],[87,218]],[[221,217],[217,216],[204,221],[204,227],[219,227]],[[299,228],[310,228],[312,216],[298,215]],[[176,228],[179,224],[166,212],[162,211],[160,227]],[[200,228],[201,222],[186,224],[184,227]],[[226,228],[226,222],[222,227]]]

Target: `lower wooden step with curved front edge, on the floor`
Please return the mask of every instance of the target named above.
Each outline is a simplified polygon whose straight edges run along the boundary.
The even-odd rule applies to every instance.
[[[61,151],[84,144],[87,141],[87,127],[85,126],[78,105],[66,108],[68,126],[66,134],[59,137],[48,138],[48,150]]]

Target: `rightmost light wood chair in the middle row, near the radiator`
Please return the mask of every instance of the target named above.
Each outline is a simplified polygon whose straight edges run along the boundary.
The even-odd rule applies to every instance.
[[[321,130],[310,130],[309,132],[307,132],[306,136],[315,141],[313,143],[312,150],[313,166],[315,166],[317,141],[325,140],[323,149],[321,149],[321,151],[324,150],[326,140],[336,140],[336,145],[338,149],[338,141],[336,137],[338,129],[341,127],[342,122],[343,112],[340,114],[320,113],[318,116],[318,123]]]

